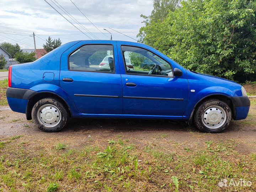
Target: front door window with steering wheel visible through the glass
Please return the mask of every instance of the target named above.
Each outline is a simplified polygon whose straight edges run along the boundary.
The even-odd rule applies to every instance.
[[[173,76],[171,65],[146,49],[122,46],[122,52],[127,74]]]

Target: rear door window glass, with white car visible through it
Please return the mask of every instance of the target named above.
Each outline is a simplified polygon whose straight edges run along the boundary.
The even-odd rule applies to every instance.
[[[69,70],[115,72],[112,45],[85,45],[69,56]]]

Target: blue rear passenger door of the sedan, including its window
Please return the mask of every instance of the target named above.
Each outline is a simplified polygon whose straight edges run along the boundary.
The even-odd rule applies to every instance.
[[[108,68],[100,63],[108,56]],[[122,114],[122,82],[116,42],[80,42],[61,58],[60,86],[80,113]]]

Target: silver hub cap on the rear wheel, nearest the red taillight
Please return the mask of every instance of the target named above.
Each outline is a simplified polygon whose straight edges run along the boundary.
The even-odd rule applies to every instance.
[[[61,114],[58,107],[46,104],[41,106],[37,111],[37,119],[45,127],[55,127],[60,122]]]

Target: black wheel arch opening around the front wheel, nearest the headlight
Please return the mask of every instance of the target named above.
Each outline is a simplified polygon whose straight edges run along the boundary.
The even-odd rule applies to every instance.
[[[196,108],[203,102],[210,100],[210,99],[218,99],[220,101],[224,101],[228,104],[228,106],[231,109],[232,112],[232,118],[234,119],[236,117],[236,110],[235,110],[235,106],[233,104],[233,102],[230,100],[230,98],[228,98],[228,96],[225,95],[220,95],[220,94],[214,94],[214,95],[208,95],[204,98],[202,98],[201,100],[199,100],[196,105],[193,108],[193,111],[190,114],[190,118],[188,120],[188,124],[192,125],[193,124],[193,116],[194,116],[194,111],[196,110]]]

